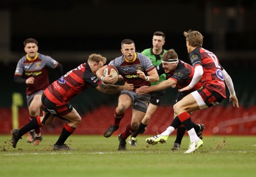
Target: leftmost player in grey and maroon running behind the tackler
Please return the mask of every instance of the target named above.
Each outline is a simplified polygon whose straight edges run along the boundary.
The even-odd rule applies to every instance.
[[[31,121],[40,115],[42,93],[49,86],[47,68],[56,70],[58,77],[62,75],[63,68],[58,61],[50,56],[37,52],[38,42],[34,38],[26,39],[23,44],[26,56],[23,56],[17,64],[14,81],[26,83],[29,121]],[[38,145],[40,141],[42,141],[40,128],[31,130],[28,133],[27,142],[33,142],[33,145]]]

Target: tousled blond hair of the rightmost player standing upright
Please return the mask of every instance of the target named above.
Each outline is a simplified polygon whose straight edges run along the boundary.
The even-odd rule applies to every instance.
[[[192,47],[203,46],[204,36],[199,31],[189,29],[188,32],[184,31],[183,35],[186,37],[186,41],[188,41]]]

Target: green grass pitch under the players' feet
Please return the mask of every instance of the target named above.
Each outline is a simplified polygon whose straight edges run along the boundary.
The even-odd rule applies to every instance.
[[[174,135],[166,144],[148,145],[138,136],[138,146],[117,151],[118,137],[71,135],[67,144],[74,151],[53,151],[58,135],[44,135],[39,146],[26,142],[26,135],[12,148],[11,135],[0,135],[0,176],[255,176],[256,138],[253,136],[205,136],[204,146],[184,154],[171,151]]]

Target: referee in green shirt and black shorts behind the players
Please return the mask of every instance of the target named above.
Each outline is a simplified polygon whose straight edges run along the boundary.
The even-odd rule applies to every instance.
[[[163,49],[163,45],[165,43],[165,34],[162,31],[156,31],[153,34],[152,38],[152,47],[145,49],[141,52],[141,54],[144,54],[148,58],[150,58],[152,64],[157,67],[158,65],[161,64],[161,57],[166,52],[166,50]],[[165,73],[162,75],[159,75],[159,81],[157,82],[151,82],[151,85],[154,86],[157,83],[164,81],[166,79]],[[131,146],[137,146],[137,135],[138,134],[143,134],[145,131],[145,128],[148,125],[148,122],[152,118],[154,112],[157,109],[157,106],[163,102],[163,96],[164,96],[165,91],[160,90],[160,91],[154,91],[151,92],[151,98],[150,98],[150,104],[148,105],[147,112],[142,119],[138,129],[132,133],[131,137],[129,138],[129,144]]]

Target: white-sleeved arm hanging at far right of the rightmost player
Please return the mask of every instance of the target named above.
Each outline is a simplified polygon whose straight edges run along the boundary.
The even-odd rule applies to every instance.
[[[234,88],[233,81],[232,81],[230,75],[228,75],[228,73],[226,72],[226,70],[223,69],[222,73],[223,73],[224,80],[227,84],[228,91],[230,93],[229,101],[233,102],[234,107],[239,108],[239,103],[238,103],[238,99],[236,97],[236,91],[235,91],[235,88]]]

